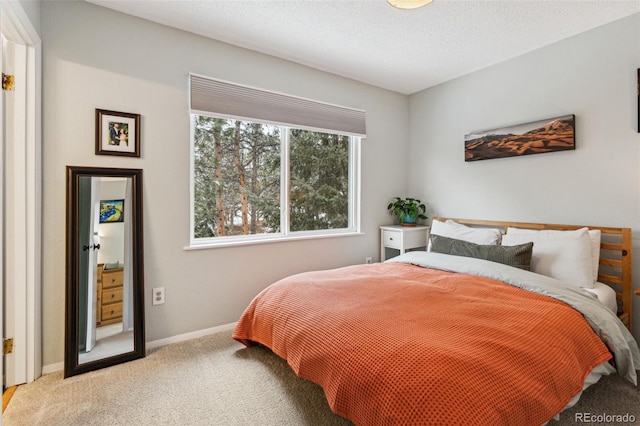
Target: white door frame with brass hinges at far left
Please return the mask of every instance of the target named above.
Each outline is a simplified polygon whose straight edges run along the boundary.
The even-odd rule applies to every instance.
[[[17,325],[15,330],[10,330],[13,335],[8,336],[4,335],[4,324],[0,323],[3,337],[14,338],[15,362],[4,371],[4,385],[8,387],[32,382],[42,375],[42,43],[17,1],[0,0],[0,32],[19,51],[15,73],[23,79],[16,81],[16,87],[21,90],[16,90],[14,95],[19,97],[20,107],[14,114],[15,131],[11,134],[17,138],[14,141],[19,141],[15,146],[20,152],[13,158],[2,158],[0,176],[0,184],[5,188],[10,185],[16,194],[12,200],[15,201],[12,214],[16,219],[7,223],[7,216],[2,215],[2,250],[6,254],[9,249],[5,245],[7,236],[3,234],[7,229],[15,236],[14,240],[23,241],[20,252],[14,255],[18,262],[10,276],[7,276],[7,265],[3,264],[4,274],[0,278],[3,290],[7,285],[24,283],[24,286],[14,285],[12,300],[2,300],[4,315],[7,315],[6,306],[13,304],[11,321]],[[4,137],[1,139],[4,150],[7,141]],[[10,161],[13,161],[14,173],[9,178],[6,166]],[[9,208],[4,200],[3,207],[5,211]]]

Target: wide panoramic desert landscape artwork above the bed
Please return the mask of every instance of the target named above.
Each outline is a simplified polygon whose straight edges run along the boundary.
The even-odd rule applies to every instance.
[[[464,161],[576,149],[575,115],[472,132],[464,137]]]

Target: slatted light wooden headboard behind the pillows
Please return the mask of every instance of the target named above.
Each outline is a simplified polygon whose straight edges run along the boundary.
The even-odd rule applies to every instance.
[[[434,220],[454,220],[467,226],[501,228],[503,233],[508,228],[527,229],[555,229],[575,230],[584,228],[599,229],[602,232],[600,243],[600,268],[598,269],[598,281],[605,283],[616,292],[618,301],[618,317],[622,323],[631,330],[631,299],[632,299],[632,275],[631,275],[631,228],[612,228],[589,225],[554,225],[549,223],[504,222],[495,220],[475,220],[435,217]]]

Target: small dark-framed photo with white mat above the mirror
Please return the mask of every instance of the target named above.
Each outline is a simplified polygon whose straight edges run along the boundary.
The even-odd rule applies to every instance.
[[[96,108],[96,155],[140,157],[140,114]]]

